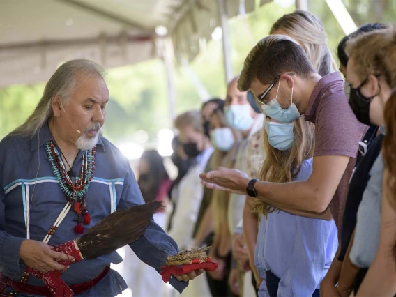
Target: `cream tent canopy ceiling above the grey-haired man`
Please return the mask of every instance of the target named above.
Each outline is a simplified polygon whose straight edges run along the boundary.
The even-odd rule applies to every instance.
[[[228,17],[256,3],[223,1]],[[220,26],[218,0],[1,1],[0,20],[0,87],[46,81],[70,59],[105,68],[151,59],[156,26],[167,27],[175,56],[191,61]]]

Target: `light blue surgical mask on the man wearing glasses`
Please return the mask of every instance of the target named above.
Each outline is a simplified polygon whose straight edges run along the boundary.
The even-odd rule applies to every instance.
[[[277,102],[277,93],[279,92],[280,81],[277,85],[276,97],[268,102],[268,104],[261,105],[261,109],[266,116],[281,123],[291,123],[298,119],[301,115],[298,112],[296,105],[293,103],[293,88],[291,88],[291,105],[283,109]]]

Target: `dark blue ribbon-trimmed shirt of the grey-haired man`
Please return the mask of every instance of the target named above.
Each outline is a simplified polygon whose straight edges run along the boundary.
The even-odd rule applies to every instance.
[[[45,142],[51,139],[50,129],[45,124],[31,139],[7,136],[0,142],[0,271],[14,280],[20,280],[26,268],[20,260],[22,241],[25,238],[43,241],[67,202],[47,159]],[[59,147],[57,149],[60,151]],[[77,155],[73,165],[75,172],[81,170],[83,153],[80,151]],[[86,206],[91,214],[88,227],[113,211],[144,204],[128,159],[105,137],[98,139],[95,162],[95,174],[86,194]],[[79,237],[73,231],[75,218],[75,213],[69,211],[50,239],[50,245],[59,245]],[[157,271],[165,265],[168,255],[178,252],[175,241],[155,222],[151,222],[144,236],[130,244],[130,248],[139,259]],[[86,282],[98,276],[105,266],[121,261],[119,254],[112,252],[72,264],[61,277],[66,284]],[[183,291],[188,285],[178,282],[174,277],[170,283],[178,291]],[[29,284],[44,285],[32,275]],[[101,296],[116,296],[125,288],[122,277],[111,271],[93,289],[100,291]]]

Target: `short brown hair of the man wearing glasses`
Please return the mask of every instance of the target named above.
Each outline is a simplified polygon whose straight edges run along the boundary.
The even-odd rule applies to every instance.
[[[287,72],[305,78],[315,70],[303,48],[293,38],[277,34],[264,37],[246,57],[238,89],[248,91],[255,78],[262,84],[271,84],[275,77]]]

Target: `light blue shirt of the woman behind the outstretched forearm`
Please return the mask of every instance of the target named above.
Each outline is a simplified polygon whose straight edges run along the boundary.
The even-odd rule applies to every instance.
[[[312,158],[305,160],[294,181],[306,181]],[[269,296],[266,271],[280,278],[277,296],[312,296],[326,275],[337,251],[334,220],[304,218],[284,211],[261,215],[255,264],[264,280],[259,296]]]

